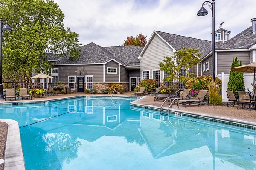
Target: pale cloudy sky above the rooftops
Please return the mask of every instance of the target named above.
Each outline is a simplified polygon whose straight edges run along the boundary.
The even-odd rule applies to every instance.
[[[154,30],[212,40],[212,15],[197,16],[204,0],[54,0],[64,26],[83,44],[120,46],[127,36],[151,37]],[[252,26],[256,0],[215,0],[215,30],[221,22],[231,37]]]

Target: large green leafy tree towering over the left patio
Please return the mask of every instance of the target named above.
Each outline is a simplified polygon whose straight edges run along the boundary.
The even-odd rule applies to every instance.
[[[76,59],[81,46],[76,32],[64,28],[64,13],[53,0],[2,0],[0,16],[12,32],[3,35],[4,80],[30,85],[33,72],[50,74],[47,53]]]

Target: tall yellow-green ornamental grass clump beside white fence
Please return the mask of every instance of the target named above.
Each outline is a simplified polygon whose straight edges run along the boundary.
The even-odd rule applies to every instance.
[[[220,87],[216,85],[216,82],[209,83],[209,103],[212,105],[219,105],[222,103],[222,98],[219,95]]]

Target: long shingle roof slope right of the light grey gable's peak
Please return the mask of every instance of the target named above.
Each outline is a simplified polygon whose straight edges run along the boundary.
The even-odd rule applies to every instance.
[[[211,50],[211,41],[201,40],[197,38],[185,37],[176,34],[169,34],[166,32],[156,31],[166,42],[169,43],[175,50],[180,50],[183,47],[186,48],[198,48],[199,52],[202,52],[204,57]]]

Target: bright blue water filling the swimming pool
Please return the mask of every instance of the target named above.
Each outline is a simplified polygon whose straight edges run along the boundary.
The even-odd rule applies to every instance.
[[[132,98],[0,107],[26,170],[255,170],[256,130],[130,108]]]

